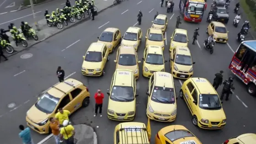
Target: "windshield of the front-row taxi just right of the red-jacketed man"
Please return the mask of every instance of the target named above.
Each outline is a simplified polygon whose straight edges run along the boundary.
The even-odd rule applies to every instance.
[[[129,102],[134,100],[133,87],[131,86],[113,86],[110,99],[113,101]]]

